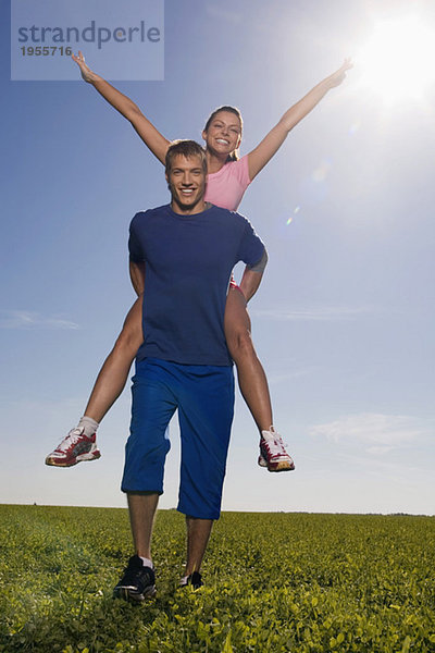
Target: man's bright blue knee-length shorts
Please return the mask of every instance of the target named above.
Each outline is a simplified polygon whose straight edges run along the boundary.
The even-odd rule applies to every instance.
[[[145,358],[136,362],[132,394],[122,491],[163,493],[171,448],[167,424],[178,409],[177,509],[190,517],[219,519],[234,414],[233,368]]]

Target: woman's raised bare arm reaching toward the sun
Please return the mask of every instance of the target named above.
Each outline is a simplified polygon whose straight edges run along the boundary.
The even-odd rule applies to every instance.
[[[290,107],[279,122],[264,136],[263,140],[248,155],[249,177],[252,181],[277,152],[288,133],[298,124],[331,88],[339,86],[346,77],[346,71],[352,67],[350,59],[345,59],[343,65],[325,79],[322,79],[299,102]]]

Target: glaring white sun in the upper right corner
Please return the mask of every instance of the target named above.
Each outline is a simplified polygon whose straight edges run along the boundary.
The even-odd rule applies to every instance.
[[[357,54],[364,86],[387,103],[423,99],[435,83],[435,29],[417,16],[380,21]]]

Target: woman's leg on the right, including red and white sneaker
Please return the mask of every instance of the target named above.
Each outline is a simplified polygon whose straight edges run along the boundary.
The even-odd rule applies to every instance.
[[[226,298],[224,326],[226,344],[237,367],[240,392],[260,431],[258,463],[261,467],[268,467],[269,471],[295,469],[291,457],[273,427],[268,379],[253,348],[245,296],[232,285]]]

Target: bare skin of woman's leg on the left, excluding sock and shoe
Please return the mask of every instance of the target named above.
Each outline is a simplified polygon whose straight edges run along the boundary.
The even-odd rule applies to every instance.
[[[140,295],[129,309],[115,346],[104,360],[85,408],[85,417],[90,417],[97,422],[102,420],[124,390],[132,362],[144,342],[142,297],[144,295]]]

